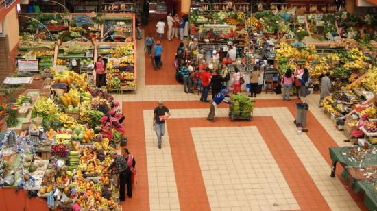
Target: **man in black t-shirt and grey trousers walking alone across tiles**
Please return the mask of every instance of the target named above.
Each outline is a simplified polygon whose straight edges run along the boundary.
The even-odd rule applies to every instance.
[[[169,109],[164,106],[164,102],[158,101],[158,107],[154,109],[153,127],[157,134],[158,149],[161,149],[162,136],[165,134],[165,120],[170,116]]]

